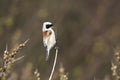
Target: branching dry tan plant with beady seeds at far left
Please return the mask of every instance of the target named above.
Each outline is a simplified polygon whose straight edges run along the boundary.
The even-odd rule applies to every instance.
[[[7,46],[6,50],[4,51],[3,56],[3,66],[0,68],[0,80],[6,80],[8,75],[10,74],[11,67],[13,63],[22,59],[24,56],[16,58],[17,53],[26,46],[26,43],[29,41],[26,40],[24,43],[20,44],[18,47],[13,49],[12,51],[8,51]]]

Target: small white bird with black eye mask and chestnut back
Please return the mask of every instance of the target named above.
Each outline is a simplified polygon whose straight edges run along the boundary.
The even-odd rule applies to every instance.
[[[43,44],[44,47],[46,47],[46,61],[47,61],[49,59],[50,50],[56,44],[53,24],[51,22],[44,22],[42,31],[43,31]]]

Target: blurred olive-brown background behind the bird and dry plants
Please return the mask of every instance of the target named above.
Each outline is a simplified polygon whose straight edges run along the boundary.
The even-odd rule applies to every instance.
[[[31,80],[38,69],[48,80],[55,49],[49,61],[42,42],[42,23],[54,24],[59,47],[54,80],[62,65],[69,80],[113,80],[111,60],[120,45],[119,0],[0,0],[0,64],[6,44],[13,49],[28,38],[11,75]]]

